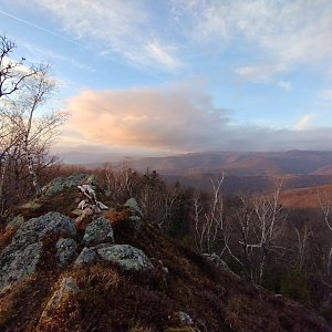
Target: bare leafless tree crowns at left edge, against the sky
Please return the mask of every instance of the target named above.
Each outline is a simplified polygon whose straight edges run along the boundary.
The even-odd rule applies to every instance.
[[[23,165],[23,159],[34,193],[40,195],[37,169],[52,160],[49,158],[44,163],[51,144],[58,137],[58,128],[66,118],[65,114],[45,113],[45,110],[38,114],[37,111],[53,93],[55,82],[51,79],[49,65],[27,68],[25,59],[22,58],[21,61],[10,59],[14,49],[14,42],[6,35],[0,37],[0,199],[2,206],[4,179],[9,179],[10,174],[15,172],[9,168],[13,165]]]

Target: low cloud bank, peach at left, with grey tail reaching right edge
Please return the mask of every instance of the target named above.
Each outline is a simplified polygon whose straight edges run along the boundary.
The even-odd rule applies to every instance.
[[[76,142],[108,148],[173,153],[331,148],[331,128],[312,129],[312,114],[294,129],[238,125],[229,111],[214,106],[203,86],[85,90],[69,101],[68,110],[72,114],[68,133],[77,133]]]

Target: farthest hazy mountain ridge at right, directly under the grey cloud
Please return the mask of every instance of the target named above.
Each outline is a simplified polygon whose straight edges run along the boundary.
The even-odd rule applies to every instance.
[[[148,157],[133,162],[137,169],[147,167],[160,174],[193,175],[219,173],[232,176],[332,175],[332,152],[211,152],[168,157]]]

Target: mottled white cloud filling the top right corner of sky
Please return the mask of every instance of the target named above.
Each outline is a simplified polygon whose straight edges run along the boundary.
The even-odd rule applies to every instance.
[[[330,0],[173,1],[177,20],[187,21],[187,34],[215,48],[245,41],[259,52],[261,63],[238,69],[255,79],[278,74],[299,64],[331,64],[332,3]],[[257,49],[258,48],[258,49]],[[270,64],[267,66],[266,61]]]

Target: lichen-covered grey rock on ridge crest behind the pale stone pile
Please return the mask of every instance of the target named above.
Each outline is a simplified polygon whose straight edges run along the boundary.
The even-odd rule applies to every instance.
[[[96,180],[93,175],[89,174],[73,174],[69,177],[58,177],[42,188],[44,195],[52,196],[63,193],[71,188],[76,188],[82,183],[96,187]]]

